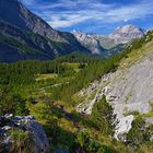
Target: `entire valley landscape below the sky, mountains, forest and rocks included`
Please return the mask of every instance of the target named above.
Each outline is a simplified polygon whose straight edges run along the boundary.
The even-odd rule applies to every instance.
[[[0,153],[152,153],[152,30],[60,32],[0,0]]]

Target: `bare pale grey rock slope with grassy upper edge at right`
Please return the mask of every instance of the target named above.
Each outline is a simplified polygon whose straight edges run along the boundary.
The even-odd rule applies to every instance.
[[[148,117],[153,111],[152,49],[153,42],[150,42],[134,50],[131,57],[123,59],[116,72],[103,75],[102,80],[82,90],[79,97],[84,97],[84,101],[76,106],[78,111],[91,114],[93,105],[105,94],[119,120],[116,138],[129,131],[134,113],[145,114]],[[93,94],[95,96],[91,98]]]

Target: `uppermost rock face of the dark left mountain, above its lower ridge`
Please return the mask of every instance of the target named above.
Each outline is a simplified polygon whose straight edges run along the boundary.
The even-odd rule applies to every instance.
[[[44,20],[33,14],[17,0],[0,1],[0,20],[13,24],[22,30],[30,30],[52,40],[63,40],[57,31]]]

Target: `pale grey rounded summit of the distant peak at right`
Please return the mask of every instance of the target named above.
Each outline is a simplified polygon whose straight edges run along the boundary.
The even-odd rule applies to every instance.
[[[133,25],[126,25],[115,30],[113,34],[108,37],[114,39],[116,44],[126,44],[134,38],[140,38],[144,35],[144,31],[133,26]]]

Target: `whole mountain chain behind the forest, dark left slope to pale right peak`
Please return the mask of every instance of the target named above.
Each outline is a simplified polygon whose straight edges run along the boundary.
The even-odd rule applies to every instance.
[[[17,0],[0,0],[0,61],[54,59],[71,52],[105,57],[121,51],[125,44],[144,35],[132,25],[118,27],[108,36],[66,33],[50,27]]]

